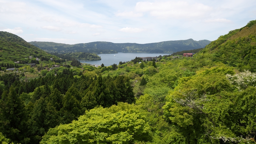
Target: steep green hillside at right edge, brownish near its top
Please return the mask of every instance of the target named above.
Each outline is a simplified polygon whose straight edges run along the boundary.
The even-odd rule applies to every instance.
[[[230,31],[194,55],[191,67],[211,67],[221,62],[239,71],[256,71],[256,24]]]

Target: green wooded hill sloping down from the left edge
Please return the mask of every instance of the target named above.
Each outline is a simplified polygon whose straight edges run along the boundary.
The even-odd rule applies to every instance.
[[[59,59],[58,57],[50,55],[44,50],[26,42],[15,34],[0,32],[0,63],[10,63],[14,61],[23,61],[26,63],[29,57],[37,57],[40,59],[42,56],[44,58]]]

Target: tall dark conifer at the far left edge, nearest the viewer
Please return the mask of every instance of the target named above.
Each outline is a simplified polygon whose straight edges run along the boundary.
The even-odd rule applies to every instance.
[[[13,86],[4,91],[0,100],[0,132],[11,141],[17,143],[26,138],[26,111],[24,103],[15,92]]]

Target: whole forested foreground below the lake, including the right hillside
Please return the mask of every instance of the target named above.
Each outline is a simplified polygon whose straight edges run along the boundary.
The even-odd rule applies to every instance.
[[[2,72],[0,142],[255,144],[255,27],[193,57]]]

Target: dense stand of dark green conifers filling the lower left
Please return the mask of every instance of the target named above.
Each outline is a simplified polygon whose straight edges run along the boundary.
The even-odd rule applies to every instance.
[[[49,128],[68,124],[86,110],[134,101],[124,76],[93,79],[66,68],[30,82],[19,77],[0,76],[0,131],[14,142],[37,143]]]

